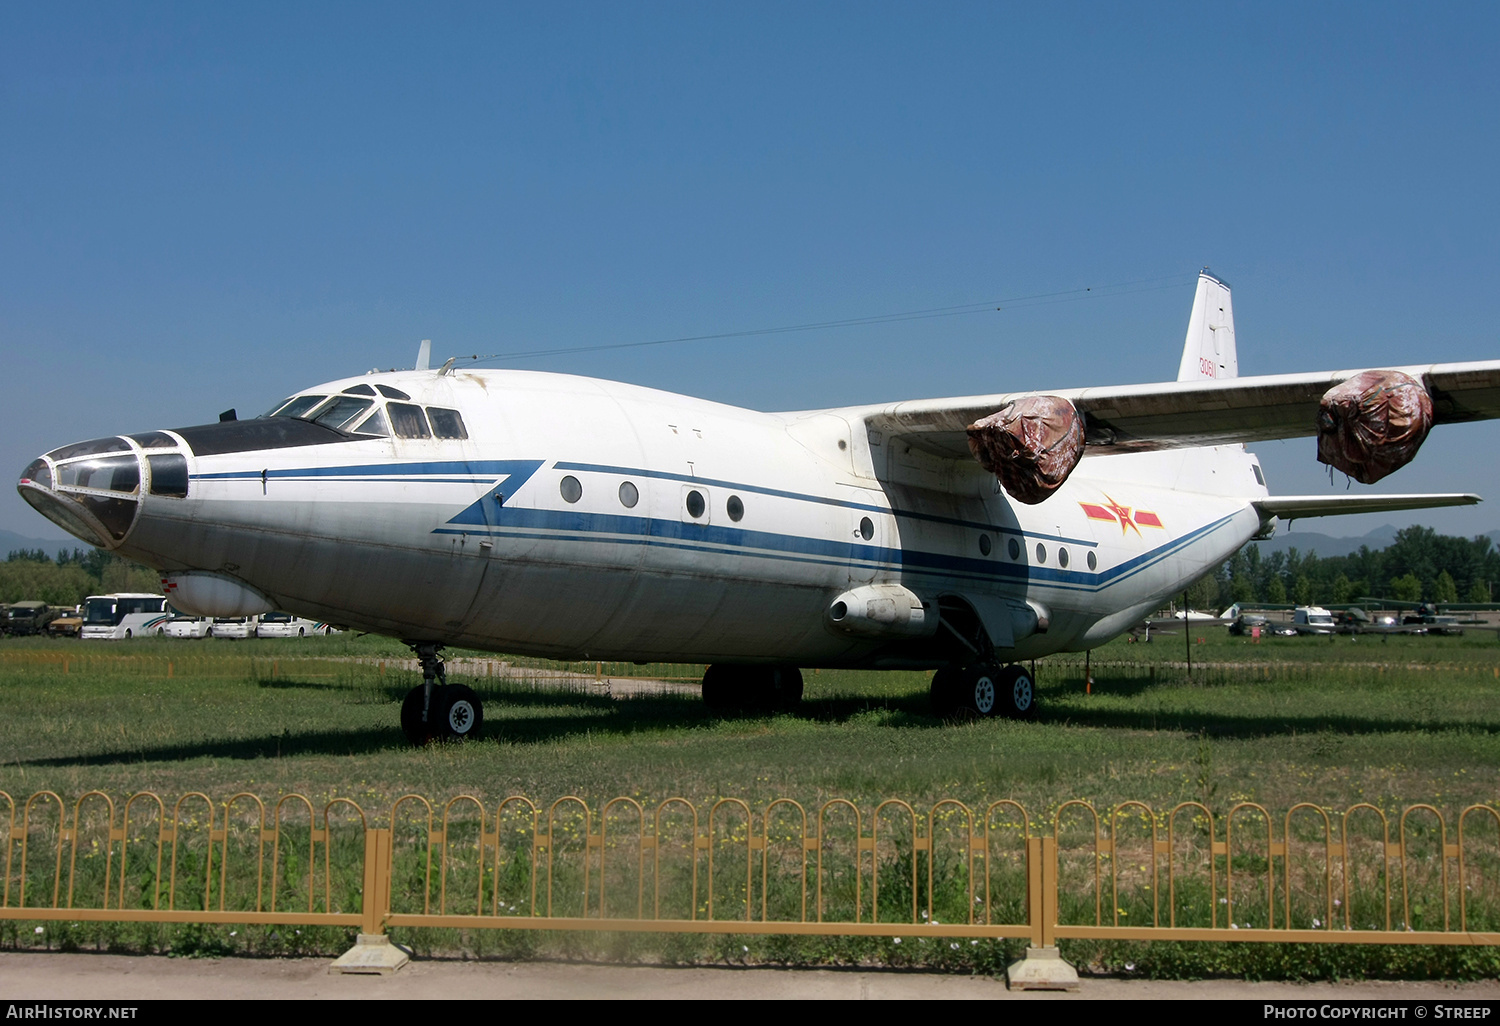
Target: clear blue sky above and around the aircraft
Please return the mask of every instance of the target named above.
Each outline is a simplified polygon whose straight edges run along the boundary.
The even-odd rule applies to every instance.
[[[1500,356],[1492,4],[4,4],[0,464],[372,366],[795,410]],[[1148,280],[1150,279],[1150,280]],[[1500,526],[1500,428],[1378,490]],[[1278,492],[1344,490],[1314,442]],[[1359,489],[1360,486],[1354,486]],[[0,530],[58,536],[10,489]]]

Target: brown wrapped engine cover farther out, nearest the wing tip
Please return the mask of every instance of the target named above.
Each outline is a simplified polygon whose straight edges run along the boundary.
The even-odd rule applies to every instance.
[[[1360,484],[1412,462],[1432,429],[1432,398],[1400,370],[1365,370],[1318,400],[1317,459]]]

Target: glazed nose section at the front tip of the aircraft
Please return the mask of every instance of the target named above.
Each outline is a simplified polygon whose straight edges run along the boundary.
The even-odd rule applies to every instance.
[[[16,490],[69,534],[112,549],[130,532],[141,512],[141,471],[142,456],[130,441],[96,438],[32,460]]]

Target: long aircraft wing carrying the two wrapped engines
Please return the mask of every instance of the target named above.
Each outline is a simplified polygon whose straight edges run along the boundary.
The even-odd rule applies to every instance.
[[[1500,417],[1500,360],[1380,369],[1422,381],[1432,396],[1436,424]],[[1316,435],[1318,399],[1364,370],[1062,388],[1046,394],[1071,400],[1083,414],[1088,453],[1149,452]],[[872,430],[932,453],[970,459],[964,429],[1030,394],[1040,393],[918,399],[842,412],[862,416]]]

